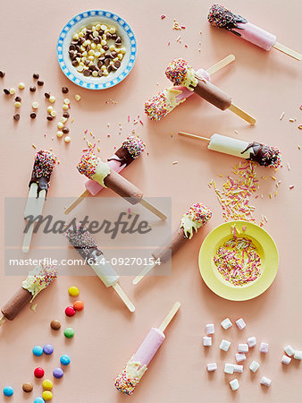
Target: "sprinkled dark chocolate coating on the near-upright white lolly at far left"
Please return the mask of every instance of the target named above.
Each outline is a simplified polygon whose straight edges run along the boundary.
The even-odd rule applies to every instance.
[[[50,176],[57,159],[56,155],[51,151],[40,150],[37,152],[29,182],[29,187],[30,184],[38,184],[37,197],[41,190],[46,190],[47,193]]]

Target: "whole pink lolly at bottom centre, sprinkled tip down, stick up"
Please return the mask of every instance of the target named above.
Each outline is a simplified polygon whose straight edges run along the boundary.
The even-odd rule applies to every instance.
[[[166,330],[175,314],[180,309],[180,302],[173,304],[171,311],[164,318],[164,321],[158,328],[151,328],[138,351],[131,356],[130,360],[122,370],[122,373],[115,378],[114,386],[125,395],[131,395],[138,386],[142,376],[147,371],[147,365],[150,364],[157,350],[164,343]]]

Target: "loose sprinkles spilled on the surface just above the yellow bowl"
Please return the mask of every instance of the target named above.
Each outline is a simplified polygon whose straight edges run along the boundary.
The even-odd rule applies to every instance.
[[[228,176],[227,182],[222,185],[222,190],[216,188],[214,180],[209,183],[209,186],[214,186],[217,199],[222,206],[222,217],[225,221],[239,219],[255,221],[253,217],[255,206],[249,204],[249,199],[258,189],[256,163],[239,162],[232,172],[237,177],[233,179]]]

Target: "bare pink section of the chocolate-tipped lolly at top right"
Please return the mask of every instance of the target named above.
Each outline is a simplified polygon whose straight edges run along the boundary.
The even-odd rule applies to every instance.
[[[257,47],[262,47],[264,50],[271,50],[277,41],[277,38],[273,34],[257,27],[251,22],[238,23],[238,26],[239,29],[234,28],[233,30],[238,32],[242,39],[246,39],[248,42],[253,43]]]

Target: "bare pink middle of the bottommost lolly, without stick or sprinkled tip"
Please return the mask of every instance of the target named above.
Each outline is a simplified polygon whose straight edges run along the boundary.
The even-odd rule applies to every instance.
[[[152,358],[155,356],[156,351],[162,346],[165,339],[162,330],[151,328],[146,338],[138,347],[138,351],[133,357],[133,361],[138,361],[140,367],[148,365]]]

